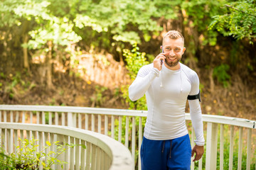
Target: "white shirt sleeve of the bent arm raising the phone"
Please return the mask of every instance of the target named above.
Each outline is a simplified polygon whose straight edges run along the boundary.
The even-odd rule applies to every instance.
[[[129,86],[129,98],[132,101],[142,98],[155,77],[159,77],[159,73],[159,70],[154,68],[153,64],[148,64],[139,69],[136,79]]]

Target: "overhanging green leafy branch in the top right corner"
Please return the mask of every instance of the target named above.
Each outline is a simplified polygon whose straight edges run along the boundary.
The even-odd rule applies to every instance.
[[[238,40],[256,38],[256,4],[252,0],[233,1],[222,6],[223,11],[213,16],[209,30],[218,30],[224,36]]]

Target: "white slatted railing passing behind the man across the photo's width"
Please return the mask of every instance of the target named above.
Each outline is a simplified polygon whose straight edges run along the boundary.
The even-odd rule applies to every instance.
[[[147,111],[125,109],[0,105],[0,122],[64,125],[108,135],[129,148],[136,169],[140,169],[141,166],[138,155],[144,128],[142,122],[146,120],[146,115]],[[195,166],[198,166],[198,169],[207,170],[226,169],[224,165],[227,164],[225,154],[227,152],[228,169],[233,169],[234,162],[238,162],[237,169],[242,169],[242,160],[246,162],[247,170],[255,166],[254,120],[203,115],[203,123],[206,135],[206,154],[196,164],[191,162],[191,169],[195,169]],[[186,113],[186,124],[193,147],[195,135],[191,130],[193,128],[191,128],[191,118],[188,113]],[[236,141],[238,144],[235,143]]]

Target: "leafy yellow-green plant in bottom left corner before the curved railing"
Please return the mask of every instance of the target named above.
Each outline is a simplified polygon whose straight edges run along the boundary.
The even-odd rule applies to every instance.
[[[16,153],[10,155],[4,154],[4,149],[0,147],[0,166],[2,169],[39,169],[39,166],[43,166],[43,169],[51,169],[50,166],[53,164],[60,164],[63,169],[63,164],[67,162],[61,161],[58,158],[60,154],[65,152],[65,146],[74,147],[73,144],[64,144],[60,141],[54,142],[55,152],[50,151],[48,154],[45,153],[52,144],[46,141],[46,146],[43,150],[39,150],[38,140],[21,140],[18,139],[21,147],[16,146]],[[82,146],[85,148],[85,146]],[[45,161],[41,159],[46,157]]]

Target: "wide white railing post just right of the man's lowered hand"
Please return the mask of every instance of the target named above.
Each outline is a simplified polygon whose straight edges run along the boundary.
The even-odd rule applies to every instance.
[[[207,123],[206,169],[216,169],[218,145],[218,124]]]

